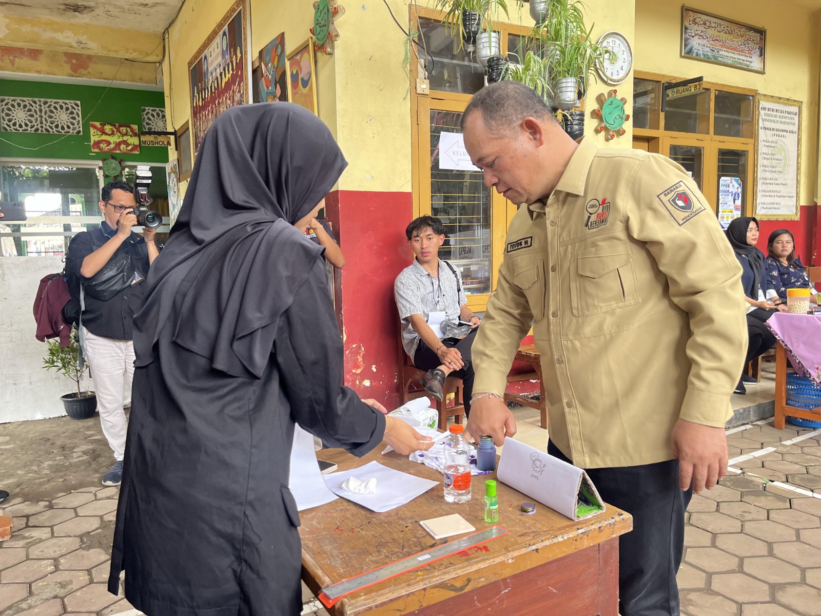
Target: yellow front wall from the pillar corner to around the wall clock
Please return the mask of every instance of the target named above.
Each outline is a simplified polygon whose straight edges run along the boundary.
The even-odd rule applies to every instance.
[[[408,2],[388,0],[393,15],[406,28],[409,25]],[[418,2],[431,6],[433,1]],[[632,2],[587,0],[588,24],[594,25],[596,39],[608,30],[620,30],[632,40],[634,15]],[[342,148],[351,166],[342,176],[340,187],[351,191],[410,191],[410,97],[408,79],[401,67],[405,34],[393,21],[383,2],[371,0],[348,5],[337,22],[342,40],[337,45],[337,122]],[[530,27],[528,5],[520,9],[511,0],[509,16],[497,21]],[[367,33],[367,35],[364,35]],[[591,87],[588,112],[599,92],[609,90],[602,81]],[[620,87],[620,94],[632,108],[632,76]],[[593,107],[590,107],[590,105]],[[597,122],[585,121],[585,131],[593,135]],[[605,143],[604,136],[593,136],[599,145],[625,147],[631,144],[632,128],[626,136]]]

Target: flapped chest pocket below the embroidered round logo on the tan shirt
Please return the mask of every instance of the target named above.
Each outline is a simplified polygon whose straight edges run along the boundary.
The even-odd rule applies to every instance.
[[[598,315],[640,302],[630,247],[593,248],[576,253],[571,264],[574,316]]]

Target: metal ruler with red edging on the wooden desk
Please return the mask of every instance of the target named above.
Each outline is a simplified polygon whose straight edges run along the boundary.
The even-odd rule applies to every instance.
[[[342,599],[342,597],[350,595],[352,592],[361,591],[363,588],[374,586],[374,584],[384,582],[392,577],[397,577],[402,573],[413,571],[427,564],[435,563],[438,560],[447,559],[448,556],[505,535],[507,535],[506,528],[502,528],[502,526],[492,526],[484,531],[466,535],[443,545],[437,545],[435,548],[425,550],[413,556],[408,556],[406,559],[396,560],[382,567],[371,569],[368,572],[360,573],[358,576],[349,577],[342,582],[337,582],[336,584],[323,588],[322,592],[319,593],[319,600],[322,601],[325,607],[329,608],[338,600]]]

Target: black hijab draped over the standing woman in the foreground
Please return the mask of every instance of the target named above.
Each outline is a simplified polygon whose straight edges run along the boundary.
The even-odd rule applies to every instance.
[[[293,227],[347,163],[328,127],[291,103],[255,103],[211,125],[171,237],[135,315],[136,365],[173,341],[229,375],[259,378],[277,320],[324,249]],[[169,335],[168,331],[164,335]]]

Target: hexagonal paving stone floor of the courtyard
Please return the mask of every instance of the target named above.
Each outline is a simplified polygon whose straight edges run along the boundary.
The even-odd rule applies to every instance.
[[[538,425],[536,411],[516,415],[520,425]],[[546,445],[540,428],[521,430],[520,438]],[[775,430],[770,421],[732,431],[727,442],[731,458],[773,451],[737,462],[740,472],[693,497],[678,575],[682,614],[821,616],[821,430]],[[90,486],[52,500],[3,503],[0,515],[14,526],[0,542],[0,616],[131,612],[106,590],[118,491]]]

